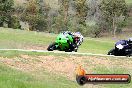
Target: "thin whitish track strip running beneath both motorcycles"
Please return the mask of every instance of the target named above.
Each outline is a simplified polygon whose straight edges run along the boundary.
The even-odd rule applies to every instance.
[[[26,49],[0,49],[0,51],[22,51],[22,52],[43,52],[43,53],[57,53],[57,54],[72,54],[72,55],[88,55],[88,56],[104,56],[104,57],[119,57],[119,58],[132,58],[126,56],[113,56],[104,54],[92,54],[92,53],[78,53],[78,52],[64,52],[64,51],[47,51],[47,50],[26,50]]]

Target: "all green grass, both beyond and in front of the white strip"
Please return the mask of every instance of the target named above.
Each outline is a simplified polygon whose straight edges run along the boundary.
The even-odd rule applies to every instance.
[[[47,47],[51,42],[55,41],[56,34],[48,34],[41,32],[29,32],[16,29],[0,28],[0,48],[24,48],[32,46],[44,46]],[[83,44],[79,47],[79,52],[83,53],[97,53],[106,54],[110,49],[114,47],[114,42],[111,38],[85,38]],[[38,52],[22,52],[22,51],[0,51],[0,57],[14,58],[20,55],[30,56],[49,56],[52,55],[59,59],[59,57],[67,57],[68,54],[57,53],[38,53]],[[82,55],[73,55],[81,57]],[[87,58],[92,57],[88,56]],[[96,58],[105,58],[99,57]],[[108,57],[113,60],[114,57]],[[65,58],[63,58],[65,59]],[[60,59],[60,61],[63,61]],[[122,58],[118,58],[120,61]],[[86,64],[92,63],[88,59]],[[101,59],[100,59],[101,60]],[[36,60],[37,61],[37,60]],[[114,60],[113,60],[114,61]],[[30,63],[30,62],[29,62]],[[125,62],[124,62],[125,63]],[[114,67],[113,69],[105,68],[104,65],[95,66],[92,71],[95,73],[130,73],[131,71],[124,70],[124,68]],[[41,74],[40,74],[41,73]],[[47,81],[48,79],[48,81]],[[129,88],[132,84],[127,85],[101,85],[105,88]],[[0,65],[0,88],[77,88],[77,83],[71,81],[59,74],[49,73],[48,71],[36,72],[35,75],[30,73],[24,73],[19,70],[15,70],[3,65]],[[100,86],[99,86],[100,87]],[[86,87],[87,88],[87,87]]]

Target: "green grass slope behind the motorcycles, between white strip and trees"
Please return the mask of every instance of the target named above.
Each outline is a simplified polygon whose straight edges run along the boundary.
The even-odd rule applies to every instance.
[[[0,28],[0,48],[25,48],[31,46],[47,47],[56,39],[56,34],[29,32]],[[85,38],[78,52],[106,54],[113,48],[114,41]]]

